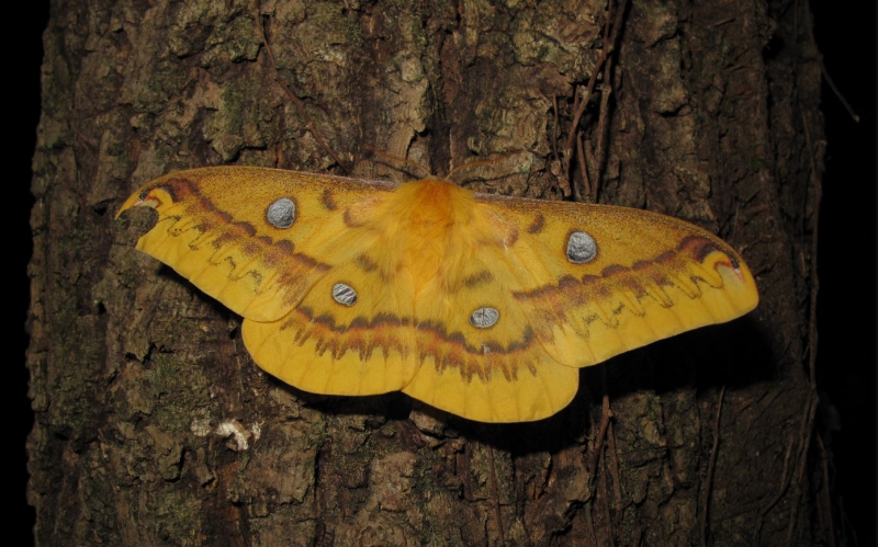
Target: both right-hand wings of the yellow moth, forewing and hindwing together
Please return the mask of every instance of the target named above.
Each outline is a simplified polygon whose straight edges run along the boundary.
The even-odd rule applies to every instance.
[[[418,309],[418,320],[431,314],[428,322],[442,326],[431,333],[438,346],[455,353],[420,350],[439,365],[421,366],[404,391],[439,408],[491,422],[544,418],[575,395],[574,367],[757,304],[738,253],[689,224],[621,207],[479,201],[470,250],[436,304]],[[470,324],[487,308],[496,323]]]

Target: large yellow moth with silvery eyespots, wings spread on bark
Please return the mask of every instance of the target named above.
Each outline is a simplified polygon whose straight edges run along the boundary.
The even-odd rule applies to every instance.
[[[640,209],[255,167],[168,174],[135,206],[158,213],[137,249],[240,315],[269,374],[482,422],[552,415],[579,367],[758,303],[729,244]]]

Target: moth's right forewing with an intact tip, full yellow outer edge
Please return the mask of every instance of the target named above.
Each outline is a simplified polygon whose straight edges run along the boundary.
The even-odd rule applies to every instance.
[[[587,366],[753,309],[750,270],[722,240],[639,209],[481,196],[502,223],[524,228],[511,300],[529,310],[540,344]]]

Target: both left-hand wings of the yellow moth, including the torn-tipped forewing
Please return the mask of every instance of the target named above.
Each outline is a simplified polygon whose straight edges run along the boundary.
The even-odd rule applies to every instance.
[[[391,185],[262,168],[205,168],[157,179],[132,195],[158,220],[137,248],[241,315],[256,363],[322,394],[401,389],[413,371],[401,299],[361,267],[374,233],[346,213],[368,210]],[[331,275],[329,275],[331,274]],[[373,298],[350,308],[335,280]],[[399,288],[399,287],[396,287]],[[410,304],[410,303],[409,303]]]

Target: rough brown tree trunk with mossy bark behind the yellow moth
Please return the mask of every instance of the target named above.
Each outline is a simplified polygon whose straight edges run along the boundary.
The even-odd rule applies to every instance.
[[[810,26],[792,1],[55,1],[30,266],[37,542],[829,543]],[[282,385],[238,317],[134,249],[147,215],[113,219],[190,167],[401,178],[367,146],[437,174],[516,152],[527,169],[469,185],[693,221],[743,254],[762,303],[584,369],[551,419],[486,425]]]

